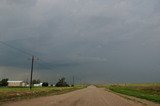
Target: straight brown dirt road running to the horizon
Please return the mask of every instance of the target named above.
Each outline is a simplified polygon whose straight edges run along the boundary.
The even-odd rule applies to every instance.
[[[85,89],[62,95],[23,100],[4,104],[3,106],[146,106],[146,104],[125,99],[105,91],[103,88],[89,86]],[[148,106],[160,105],[150,103]]]

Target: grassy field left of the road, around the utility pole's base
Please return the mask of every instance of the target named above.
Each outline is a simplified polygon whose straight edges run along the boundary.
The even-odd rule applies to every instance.
[[[33,87],[31,90],[28,87],[1,87],[0,88],[0,104],[7,101],[17,101],[22,99],[30,99],[39,96],[48,96],[62,94],[77,89],[82,89],[85,86],[75,87]]]

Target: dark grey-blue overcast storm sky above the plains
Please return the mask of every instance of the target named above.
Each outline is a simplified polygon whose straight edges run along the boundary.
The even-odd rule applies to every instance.
[[[1,0],[0,41],[0,78],[159,82],[160,0]]]

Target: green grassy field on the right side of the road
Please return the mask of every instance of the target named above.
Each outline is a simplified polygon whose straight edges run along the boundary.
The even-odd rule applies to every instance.
[[[160,103],[159,83],[111,85],[109,89],[117,93]]]

